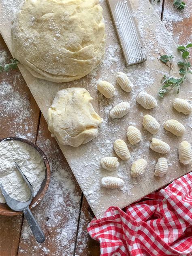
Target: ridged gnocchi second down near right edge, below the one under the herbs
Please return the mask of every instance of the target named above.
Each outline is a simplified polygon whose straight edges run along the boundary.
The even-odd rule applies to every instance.
[[[180,137],[184,134],[186,131],[185,126],[183,126],[181,123],[179,123],[175,119],[169,119],[164,123],[165,130],[173,133],[174,135]]]

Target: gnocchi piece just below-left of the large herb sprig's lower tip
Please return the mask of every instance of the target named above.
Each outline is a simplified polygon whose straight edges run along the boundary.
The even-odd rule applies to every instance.
[[[147,94],[146,92],[140,92],[137,95],[137,103],[139,103],[142,107],[144,107],[144,109],[152,109],[154,107],[157,107],[157,101],[156,99]]]

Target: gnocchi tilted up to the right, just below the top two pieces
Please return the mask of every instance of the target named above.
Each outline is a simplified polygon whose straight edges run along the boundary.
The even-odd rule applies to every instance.
[[[129,102],[124,101],[124,102],[120,102],[119,104],[115,105],[115,107],[113,107],[113,109],[111,109],[109,115],[113,119],[121,118],[124,115],[126,115],[129,110],[130,110]]]

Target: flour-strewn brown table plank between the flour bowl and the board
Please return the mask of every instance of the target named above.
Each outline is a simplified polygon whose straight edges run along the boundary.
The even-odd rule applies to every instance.
[[[24,220],[18,255],[73,255],[81,189],[43,116],[36,144],[45,152],[52,167],[49,190],[33,209],[46,240],[38,245]]]

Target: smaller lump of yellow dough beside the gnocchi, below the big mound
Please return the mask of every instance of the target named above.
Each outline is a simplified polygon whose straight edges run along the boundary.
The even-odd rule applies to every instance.
[[[97,136],[103,119],[94,111],[92,97],[84,88],[60,90],[48,109],[51,136],[60,144],[78,147]]]

